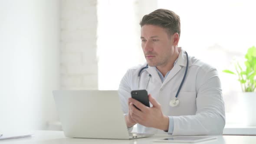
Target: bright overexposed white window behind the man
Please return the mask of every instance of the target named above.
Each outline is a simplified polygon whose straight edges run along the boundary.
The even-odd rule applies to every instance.
[[[255,4],[249,0],[156,1],[155,9],[173,10],[181,17],[179,46],[190,56],[217,68],[227,121],[241,121],[232,115],[239,110],[235,94],[241,92],[240,83],[235,75],[222,70],[232,70],[233,59],[243,59],[247,49],[256,46]],[[136,6],[136,1],[102,0],[98,4],[98,85],[99,89],[118,89],[126,70],[145,62],[138,23],[144,14],[155,9],[149,7],[148,13],[140,12],[142,8]]]

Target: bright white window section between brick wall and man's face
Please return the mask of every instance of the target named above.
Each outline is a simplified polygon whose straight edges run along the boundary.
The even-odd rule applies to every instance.
[[[141,27],[157,0],[98,0],[98,88],[117,90],[128,68],[144,63]]]

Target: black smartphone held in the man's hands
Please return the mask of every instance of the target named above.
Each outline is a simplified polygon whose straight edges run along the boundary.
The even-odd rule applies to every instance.
[[[146,105],[147,107],[150,107],[149,105],[149,99],[148,99],[148,92],[147,90],[135,90],[131,91],[131,98],[136,99],[137,101],[140,101],[142,104]],[[135,106],[135,105],[134,105]],[[136,106],[135,106],[136,107]],[[137,107],[136,107],[137,108]],[[139,108],[138,108],[139,109]],[[140,109],[139,109],[140,110]]]

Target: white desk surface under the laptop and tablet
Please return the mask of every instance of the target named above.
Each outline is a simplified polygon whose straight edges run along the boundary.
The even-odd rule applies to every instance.
[[[1,140],[0,143],[1,144],[165,144],[165,143],[153,142],[154,139],[159,139],[164,137],[171,137],[171,136],[168,136],[168,135],[153,136],[153,137],[138,138],[133,140],[110,140],[110,139],[68,138],[64,136],[63,131],[35,131],[33,137]],[[256,144],[256,136],[224,135],[224,136],[217,136],[217,137],[218,138],[216,140],[205,141],[200,144],[204,144],[204,143],[205,144]]]

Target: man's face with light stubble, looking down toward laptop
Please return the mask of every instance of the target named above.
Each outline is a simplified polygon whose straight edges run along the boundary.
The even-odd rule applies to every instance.
[[[174,54],[174,36],[155,25],[141,27],[141,47],[149,66],[165,66]]]

